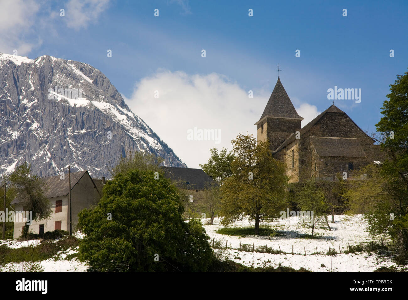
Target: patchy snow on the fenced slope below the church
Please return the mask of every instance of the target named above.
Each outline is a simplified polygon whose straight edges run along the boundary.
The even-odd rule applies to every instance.
[[[315,228],[315,234],[320,236],[317,239],[302,238],[302,234],[311,234],[311,229],[302,227],[299,224],[300,217],[290,217],[286,220],[278,220],[275,222],[262,223],[261,225],[270,225],[275,228],[279,236],[228,236],[216,233],[216,231],[223,227],[220,224],[220,218],[214,219],[214,225],[204,225],[207,234],[214,238],[215,241],[223,240],[223,247],[225,247],[226,240],[228,240],[228,247],[239,248],[239,243],[254,244],[257,246],[268,246],[275,250],[280,249],[283,252],[290,254],[271,254],[271,253],[257,253],[245,252],[234,249],[221,250],[215,249],[215,252],[220,254],[223,258],[231,259],[235,262],[242,263],[246,266],[264,267],[282,264],[285,267],[292,267],[300,269],[301,267],[310,271],[337,271],[337,272],[371,272],[379,267],[396,266],[390,257],[380,257],[374,253],[350,253],[337,254],[335,256],[325,255],[328,248],[334,248],[339,252],[345,251],[348,248],[348,243],[355,246],[360,242],[368,243],[371,241],[379,242],[380,236],[370,236],[366,231],[366,222],[362,215],[355,216],[335,216],[335,223],[329,221],[331,231],[322,229],[322,225]],[[208,220],[208,219],[207,219]],[[331,218],[330,218],[331,220]],[[255,222],[242,220],[231,224],[229,227],[253,227]],[[384,243],[389,241],[387,236],[382,236]],[[292,252],[293,246],[293,255]],[[314,254],[317,251],[320,254]],[[306,249],[306,255],[305,254]],[[264,263],[265,262],[265,263]],[[322,267],[322,265],[324,265]]]

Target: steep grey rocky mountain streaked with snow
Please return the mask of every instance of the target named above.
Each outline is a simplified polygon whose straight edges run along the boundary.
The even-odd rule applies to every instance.
[[[38,176],[71,165],[109,177],[109,167],[129,150],[186,167],[98,69],[0,53],[0,174],[27,161]]]

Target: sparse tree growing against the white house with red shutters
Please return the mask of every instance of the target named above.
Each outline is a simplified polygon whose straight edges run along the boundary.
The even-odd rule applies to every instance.
[[[33,211],[33,221],[48,219],[51,216],[51,205],[44,196],[48,189],[37,175],[31,174],[31,164],[20,164],[7,178],[15,189],[17,197],[22,200],[24,211]],[[28,229],[25,225],[24,232]]]

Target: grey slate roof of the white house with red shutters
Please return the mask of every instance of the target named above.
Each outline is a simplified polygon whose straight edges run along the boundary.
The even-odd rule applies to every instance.
[[[75,173],[71,173],[71,189],[75,186],[75,184],[78,183],[78,181],[86,174],[88,171],[79,171]],[[89,173],[88,173],[89,175]],[[40,178],[42,182],[45,182],[47,187],[49,189],[44,190],[44,196],[47,198],[53,198],[53,197],[62,197],[62,196],[67,196],[69,193],[69,180],[68,180],[68,174],[65,174],[65,179],[62,180],[59,175],[57,176],[49,176],[49,177],[44,177]],[[10,204],[16,204],[20,203],[22,200],[17,196],[14,198],[13,201],[10,202]]]

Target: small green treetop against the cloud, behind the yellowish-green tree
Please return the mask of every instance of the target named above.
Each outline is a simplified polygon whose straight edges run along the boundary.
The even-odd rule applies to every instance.
[[[213,176],[213,179],[218,183],[225,180],[225,178],[231,176],[231,163],[234,160],[232,151],[227,153],[227,149],[222,148],[218,153],[217,148],[210,149],[211,158],[206,164],[200,164],[200,167],[209,176]]]

